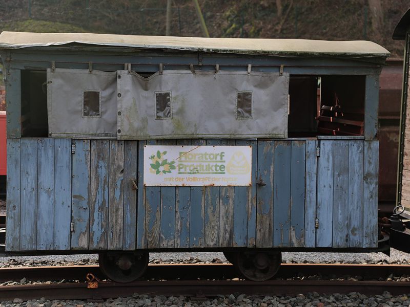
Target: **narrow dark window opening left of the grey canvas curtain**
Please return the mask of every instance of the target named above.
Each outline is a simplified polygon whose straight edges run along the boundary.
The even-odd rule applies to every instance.
[[[46,71],[22,70],[22,137],[48,136]]]

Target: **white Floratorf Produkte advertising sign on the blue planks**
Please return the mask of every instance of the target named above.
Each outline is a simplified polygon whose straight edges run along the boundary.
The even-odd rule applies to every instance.
[[[145,186],[250,186],[251,146],[144,146]]]

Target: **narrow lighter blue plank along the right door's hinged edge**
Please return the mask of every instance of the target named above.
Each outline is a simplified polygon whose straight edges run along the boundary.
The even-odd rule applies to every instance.
[[[316,246],[316,157],[317,141],[306,141],[306,188],[305,188],[305,215],[304,215],[304,245]]]

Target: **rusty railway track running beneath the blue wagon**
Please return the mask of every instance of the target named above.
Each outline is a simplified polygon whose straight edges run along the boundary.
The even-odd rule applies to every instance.
[[[385,281],[394,276],[410,276],[410,266],[403,265],[323,265],[283,264],[276,279],[255,282],[240,280],[232,265],[150,265],[146,276],[149,280],[131,283],[97,281],[96,288],[89,289],[87,274],[102,277],[98,266],[26,267],[2,268],[0,280],[65,280],[52,284],[23,284],[0,287],[0,300],[23,300],[44,297],[46,299],[90,299],[132,296],[134,293],[149,295],[183,295],[212,297],[218,294],[244,293],[254,295],[296,295],[298,293],[350,293],[392,294],[410,293],[408,281]],[[322,280],[306,279],[322,276]],[[200,277],[198,277],[200,276]],[[303,278],[303,276],[305,278]],[[337,280],[343,276],[360,276],[351,280]],[[327,278],[327,279],[326,279]],[[305,280],[303,280],[305,279]],[[383,279],[379,281],[378,279]],[[75,280],[75,281],[68,281]]]

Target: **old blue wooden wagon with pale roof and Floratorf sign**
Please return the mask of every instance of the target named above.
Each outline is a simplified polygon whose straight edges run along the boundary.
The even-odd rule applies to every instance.
[[[3,32],[8,254],[378,251],[369,41]],[[317,91],[320,91],[320,101]],[[347,90],[348,89],[348,90]]]

